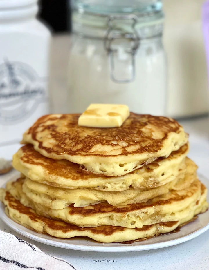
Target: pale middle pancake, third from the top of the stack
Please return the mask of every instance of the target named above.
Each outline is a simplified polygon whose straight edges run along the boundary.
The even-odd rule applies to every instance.
[[[171,182],[156,188],[133,189],[125,191],[100,191],[94,189],[63,189],[52,187],[22,178],[18,181],[23,183],[23,192],[33,202],[45,205],[52,209],[63,209],[73,204],[74,207],[93,205],[102,201],[107,201],[110,205],[127,205],[138,202],[146,202],[156,196],[168,193],[172,189],[181,190],[189,187],[196,179],[196,169],[194,163],[190,161],[187,166],[185,178],[176,178]],[[16,182],[7,184],[7,190],[11,190]]]

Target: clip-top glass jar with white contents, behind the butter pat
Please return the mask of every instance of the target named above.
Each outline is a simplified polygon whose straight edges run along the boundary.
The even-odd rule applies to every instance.
[[[89,1],[73,5],[70,112],[83,112],[90,103],[118,103],[133,112],[165,115],[161,2],[134,1],[152,2],[140,11],[134,5],[132,10],[111,6],[109,1],[90,7],[83,2]]]

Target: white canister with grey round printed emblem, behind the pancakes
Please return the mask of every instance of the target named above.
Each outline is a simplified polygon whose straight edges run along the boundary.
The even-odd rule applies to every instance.
[[[48,113],[51,34],[37,11],[37,0],[0,1],[0,146]]]

